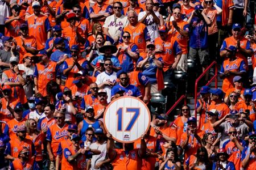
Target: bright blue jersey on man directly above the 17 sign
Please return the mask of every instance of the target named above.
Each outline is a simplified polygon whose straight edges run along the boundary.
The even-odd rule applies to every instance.
[[[141,91],[139,91],[139,89],[136,86],[133,86],[131,84],[129,84],[126,87],[121,86],[121,84],[117,84],[115,85],[112,90],[111,90],[111,96],[114,96],[114,91],[116,91],[115,89],[119,89],[119,90],[123,90],[125,91],[124,96],[134,96],[134,97],[141,97]]]

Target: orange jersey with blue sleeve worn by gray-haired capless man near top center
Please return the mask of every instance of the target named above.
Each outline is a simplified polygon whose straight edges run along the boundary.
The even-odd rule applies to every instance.
[[[130,42],[133,42],[138,46],[139,53],[145,52],[146,41],[150,40],[150,35],[146,25],[143,23],[137,23],[137,25],[133,27],[131,24],[128,24],[125,28],[123,28],[123,32],[125,31],[130,33]]]

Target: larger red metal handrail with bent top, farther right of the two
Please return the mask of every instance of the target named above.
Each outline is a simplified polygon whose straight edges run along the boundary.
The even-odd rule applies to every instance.
[[[207,84],[205,84],[205,86],[208,86],[214,79],[215,79],[215,88],[218,87],[218,68],[217,68],[217,62],[213,61],[205,70],[204,72],[199,76],[199,78],[196,79],[196,83],[195,83],[195,118],[197,117],[197,112],[196,112],[196,103],[197,103],[197,96],[200,94],[200,92],[197,92],[197,86],[198,86],[198,82],[199,80],[201,80],[201,78],[203,78],[203,76],[207,73],[207,71],[212,68],[212,66],[215,66],[215,72],[214,72],[214,76],[207,82]]]

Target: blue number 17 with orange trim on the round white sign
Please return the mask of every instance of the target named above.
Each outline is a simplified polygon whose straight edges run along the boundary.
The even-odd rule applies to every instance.
[[[125,128],[125,131],[130,131],[131,128],[133,128],[133,125],[135,124],[135,122],[137,121],[138,117],[139,117],[139,108],[126,108],[126,113],[127,112],[134,112],[135,114],[133,115],[133,118],[131,118],[130,122],[128,123],[128,125]],[[123,108],[119,108],[117,110],[117,130],[118,131],[122,131],[122,122],[123,122]]]

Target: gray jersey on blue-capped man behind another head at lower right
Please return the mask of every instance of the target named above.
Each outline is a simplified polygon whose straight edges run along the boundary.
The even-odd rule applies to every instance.
[[[223,122],[220,124],[220,127],[218,128],[218,137],[220,137],[220,148],[222,148],[223,144],[230,139],[229,137],[229,129],[233,127],[230,122]],[[237,130],[237,137],[240,139],[244,139],[245,136],[249,132],[249,127],[243,123],[240,122],[240,124],[237,127],[234,127]]]

